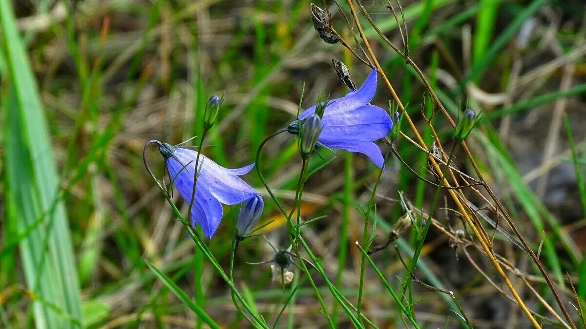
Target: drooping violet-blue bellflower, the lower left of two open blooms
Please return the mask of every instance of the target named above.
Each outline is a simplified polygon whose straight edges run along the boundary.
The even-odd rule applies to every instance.
[[[159,144],[159,152],[165,158],[172,184],[189,204],[197,152],[168,143]],[[222,220],[222,204],[232,205],[257,197],[257,191],[238,177],[250,172],[254,163],[239,169],[226,169],[200,154],[197,166],[201,169],[197,176],[190,221],[192,227],[199,224],[203,234],[211,238]]]

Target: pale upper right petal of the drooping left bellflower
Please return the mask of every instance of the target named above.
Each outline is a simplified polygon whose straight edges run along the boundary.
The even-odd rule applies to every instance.
[[[174,155],[182,163],[190,163],[189,171],[192,174],[191,182],[193,184],[193,170],[195,169],[195,159],[197,152],[189,149],[178,148]],[[174,159],[170,159],[175,161]],[[226,169],[217,165],[206,156],[200,155],[198,166],[201,164],[202,170],[197,177],[196,190],[199,192],[199,184],[203,184],[205,189],[216,197],[223,204],[237,204],[256,195],[256,191],[246,182],[236,176],[236,174],[244,174],[252,167],[247,166],[240,169]],[[169,171],[169,173],[171,173]]]

